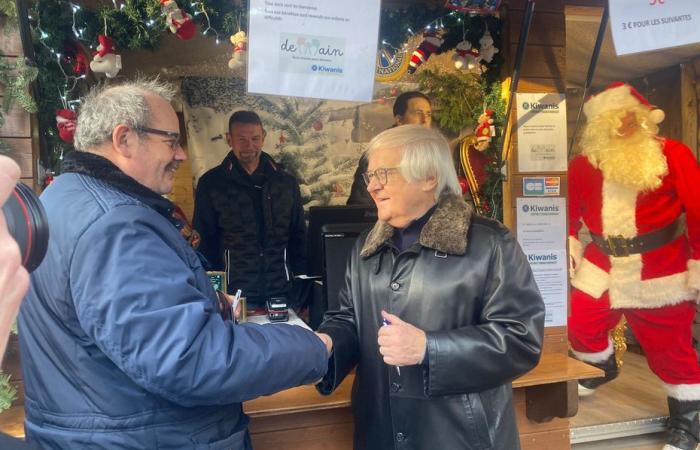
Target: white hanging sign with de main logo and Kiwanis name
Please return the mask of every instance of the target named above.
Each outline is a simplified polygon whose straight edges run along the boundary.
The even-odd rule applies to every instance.
[[[380,0],[251,0],[248,92],[370,101]]]

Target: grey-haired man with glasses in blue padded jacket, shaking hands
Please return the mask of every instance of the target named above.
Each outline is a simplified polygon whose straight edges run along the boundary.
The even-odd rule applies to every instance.
[[[20,312],[29,441],[50,449],[249,449],[241,402],[318,380],[312,332],[222,319],[178,231],[186,159],[156,81],[83,101],[79,151],[42,194],[49,250]]]

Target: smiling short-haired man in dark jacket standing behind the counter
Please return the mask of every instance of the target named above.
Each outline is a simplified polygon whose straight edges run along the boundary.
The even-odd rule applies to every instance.
[[[304,210],[297,180],[262,151],[260,117],[237,111],[228,129],[231,152],[197,184],[194,228],[211,269],[226,270],[229,292],[241,289],[259,307],[306,272]]]

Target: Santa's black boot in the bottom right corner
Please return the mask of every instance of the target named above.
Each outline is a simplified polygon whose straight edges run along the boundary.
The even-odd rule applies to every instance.
[[[668,398],[668,438],[663,450],[695,450],[700,441],[700,401]]]

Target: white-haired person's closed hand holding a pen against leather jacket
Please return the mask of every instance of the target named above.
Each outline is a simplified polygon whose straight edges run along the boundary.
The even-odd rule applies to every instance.
[[[377,336],[379,353],[384,356],[384,362],[392,366],[412,366],[423,362],[427,343],[425,331],[386,311],[382,311],[382,319],[390,324],[381,327]]]

